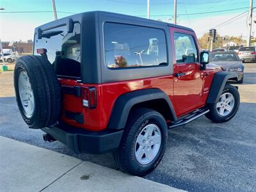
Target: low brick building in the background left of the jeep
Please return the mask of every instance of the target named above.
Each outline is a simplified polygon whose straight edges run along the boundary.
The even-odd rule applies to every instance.
[[[13,46],[9,46],[9,43],[2,42],[3,49],[12,49],[12,51],[18,51],[19,54],[33,52],[33,42],[14,42]]]

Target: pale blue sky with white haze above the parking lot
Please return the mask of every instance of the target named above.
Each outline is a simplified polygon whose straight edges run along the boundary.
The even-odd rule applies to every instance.
[[[93,10],[147,18],[147,0],[55,0],[55,4],[58,18]],[[52,0],[0,0],[0,6],[4,8],[0,10],[2,41],[33,39],[36,26],[54,20]],[[177,21],[194,29],[198,37],[216,28],[221,36],[246,38],[249,6],[250,0],[177,0]],[[173,0],[150,0],[150,19],[173,23]],[[253,23],[252,35],[255,31]]]

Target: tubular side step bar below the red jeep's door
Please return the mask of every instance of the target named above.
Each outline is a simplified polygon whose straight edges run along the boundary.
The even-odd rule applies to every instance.
[[[169,126],[169,129],[174,128],[174,127],[178,127],[180,125],[188,124],[189,122],[192,122],[196,118],[198,118],[198,117],[200,117],[202,115],[205,115],[209,111],[210,111],[209,109],[201,109],[200,111],[195,111],[191,115],[188,115],[188,116],[182,118],[181,120],[178,120],[177,122],[174,122],[173,124],[171,124]]]

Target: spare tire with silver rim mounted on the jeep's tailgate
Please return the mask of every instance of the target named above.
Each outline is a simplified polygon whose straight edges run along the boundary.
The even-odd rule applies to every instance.
[[[42,56],[22,56],[14,69],[14,88],[22,118],[32,129],[56,124],[61,88],[51,63]]]

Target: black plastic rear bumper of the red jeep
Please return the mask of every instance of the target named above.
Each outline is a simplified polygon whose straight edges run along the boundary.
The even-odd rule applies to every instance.
[[[70,150],[77,154],[104,154],[113,152],[118,148],[124,132],[124,130],[113,131],[111,129],[92,132],[60,125],[58,127],[43,128],[42,131],[67,145]]]

